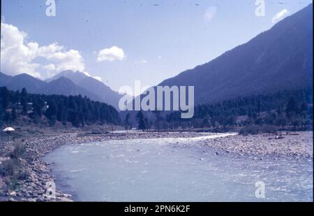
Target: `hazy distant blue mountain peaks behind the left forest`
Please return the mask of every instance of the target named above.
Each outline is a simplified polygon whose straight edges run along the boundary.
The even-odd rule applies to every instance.
[[[80,71],[62,71],[45,81],[22,73],[15,76],[0,72],[0,86],[16,91],[23,87],[33,94],[62,94],[87,96],[93,101],[108,103],[119,109],[121,95],[107,87],[103,82],[85,75]]]

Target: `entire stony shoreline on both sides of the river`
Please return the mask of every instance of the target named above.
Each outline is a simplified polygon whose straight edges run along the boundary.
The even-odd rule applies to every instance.
[[[24,170],[29,173],[25,180],[19,180],[16,189],[0,190],[0,201],[72,201],[70,194],[63,194],[56,189],[55,198],[47,192],[47,182],[54,182],[50,164],[43,157],[61,145],[101,142],[107,140],[128,140],[147,138],[195,138],[209,133],[197,132],[145,132],[128,134],[91,134],[67,133],[52,136],[17,139],[1,143],[0,164],[10,157],[6,156],[17,144],[25,148],[22,159]],[[213,134],[213,133],[211,133]],[[237,157],[288,157],[294,159],[313,159],[313,131],[297,132],[298,135],[283,135],[276,139],[274,134],[257,134],[249,136],[224,136],[200,140],[200,145],[213,147],[218,151],[234,154]],[[0,187],[3,187],[0,177]]]

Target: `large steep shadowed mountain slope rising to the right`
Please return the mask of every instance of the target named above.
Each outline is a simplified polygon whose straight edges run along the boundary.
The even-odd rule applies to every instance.
[[[248,43],[159,85],[193,85],[195,103],[313,88],[313,5],[286,17]]]

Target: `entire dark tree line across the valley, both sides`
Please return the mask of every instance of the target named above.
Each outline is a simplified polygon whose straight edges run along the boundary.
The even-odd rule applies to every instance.
[[[33,123],[53,126],[56,122],[84,127],[85,124],[119,124],[119,113],[112,106],[91,101],[86,96],[29,94],[27,89],[9,91],[0,87],[0,125],[29,117]],[[137,129],[227,128],[248,125],[305,127],[313,124],[313,89],[285,90],[273,94],[238,97],[195,106],[191,119],[181,119],[180,112],[153,111],[136,114]],[[151,117],[153,116],[153,117]],[[44,117],[44,118],[43,118]],[[133,127],[130,114],[123,122]]]

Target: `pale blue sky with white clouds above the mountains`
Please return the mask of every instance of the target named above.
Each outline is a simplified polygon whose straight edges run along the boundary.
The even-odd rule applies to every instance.
[[[158,85],[246,43],[312,3],[56,0],[55,16],[47,16],[54,0],[47,6],[46,1],[1,1],[1,72],[44,80],[70,69],[115,91],[133,87],[135,80],[142,86]]]

